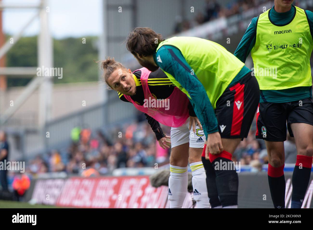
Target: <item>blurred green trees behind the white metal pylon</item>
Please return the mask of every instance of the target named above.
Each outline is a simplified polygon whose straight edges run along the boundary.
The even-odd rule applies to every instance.
[[[9,39],[9,36],[7,36]],[[53,39],[54,66],[63,68],[63,78],[54,77],[54,83],[86,82],[98,80],[97,37]],[[6,55],[8,67],[37,67],[37,36],[23,37]],[[24,86],[30,78],[8,78],[8,87]]]

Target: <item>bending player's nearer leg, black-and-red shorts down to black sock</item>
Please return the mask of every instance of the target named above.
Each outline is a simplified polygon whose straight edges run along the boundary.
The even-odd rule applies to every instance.
[[[258,104],[259,84],[250,73],[237,84],[228,86],[216,103],[219,132],[208,135],[206,156],[216,174],[218,197],[223,208],[237,207],[239,181],[232,154],[240,140],[248,136]],[[217,136],[221,138],[222,150],[216,146]],[[226,170],[221,167],[224,165]]]

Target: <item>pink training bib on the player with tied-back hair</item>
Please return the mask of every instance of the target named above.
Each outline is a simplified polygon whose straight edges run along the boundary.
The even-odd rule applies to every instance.
[[[141,70],[141,85],[145,96],[144,104],[137,105],[130,96],[124,95],[125,98],[134,104],[137,110],[148,114],[163,125],[170,127],[180,127],[185,124],[189,117],[188,104],[189,100],[177,87],[174,88],[172,94],[162,100],[156,100],[148,87],[148,77],[151,73],[146,68],[137,69],[134,72]]]

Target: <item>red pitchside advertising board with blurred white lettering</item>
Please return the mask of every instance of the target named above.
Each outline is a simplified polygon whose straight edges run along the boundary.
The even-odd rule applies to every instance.
[[[56,205],[85,208],[164,208],[167,187],[151,187],[149,176],[66,180]]]

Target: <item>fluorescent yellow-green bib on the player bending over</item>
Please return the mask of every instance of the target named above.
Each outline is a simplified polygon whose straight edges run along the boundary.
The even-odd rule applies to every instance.
[[[223,46],[203,38],[168,38],[159,44],[156,51],[163,45],[172,45],[182,52],[191,67],[190,72],[194,73],[203,84],[213,109],[216,108],[218,98],[244,67],[244,63]],[[190,98],[187,90],[171,74],[164,70],[163,72]]]

